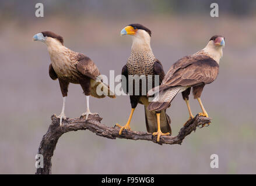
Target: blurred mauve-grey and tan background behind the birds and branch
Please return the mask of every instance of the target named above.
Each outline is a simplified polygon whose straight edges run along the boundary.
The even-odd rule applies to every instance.
[[[90,131],[62,135],[52,158],[52,174],[245,174],[256,173],[256,1],[40,1],[44,17],[35,16],[39,1],[0,1],[0,173],[34,174],[41,138],[59,115],[62,95],[48,75],[50,57],[32,37],[53,31],[66,47],[94,60],[101,74],[121,73],[131,52],[131,37],[122,28],[141,23],[152,30],[151,47],[167,72],[177,59],[204,48],[212,35],[226,38],[218,78],[206,85],[202,102],[212,124],[197,129],[182,145],[108,140]],[[211,17],[210,5],[219,5]],[[86,99],[79,85],[69,86],[65,114],[79,117]],[[194,115],[201,112],[192,99]],[[90,109],[102,123],[124,125],[128,96],[90,98]],[[188,119],[181,94],[171,108],[173,135]],[[132,130],[146,131],[142,105]],[[219,156],[211,169],[210,156]]]

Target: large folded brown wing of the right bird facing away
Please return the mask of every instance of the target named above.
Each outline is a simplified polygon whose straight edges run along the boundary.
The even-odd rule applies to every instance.
[[[185,59],[188,59],[188,62],[185,62]],[[173,65],[164,77],[162,85],[175,87],[208,84],[216,79],[218,73],[218,63],[209,56],[186,56]]]

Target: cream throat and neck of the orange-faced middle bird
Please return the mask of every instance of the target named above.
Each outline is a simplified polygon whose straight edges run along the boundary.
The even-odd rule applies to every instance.
[[[150,35],[145,30],[138,30],[135,35],[132,36],[132,51],[152,51],[150,47]]]

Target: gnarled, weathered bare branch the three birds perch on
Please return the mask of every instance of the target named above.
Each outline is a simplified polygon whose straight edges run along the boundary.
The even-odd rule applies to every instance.
[[[187,123],[185,123],[185,125],[180,129],[178,135],[162,136],[160,137],[160,142],[157,142],[156,136],[154,137],[152,134],[143,131],[124,130],[122,135],[119,135],[119,127],[108,127],[101,124],[100,121],[102,118],[99,116],[89,115],[88,120],[85,120],[85,117],[80,117],[80,119],[67,119],[62,121],[62,126],[59,126],[59,119],[55,115],[51,116],[51,120],[52,123],[50,124],[47,133],[43,136],[38,149],[38,154],[41,154],[44,157],[44,167],[38,168],[36,174],[51,174],[51,157],[53,156],[55,146],[57,145],[59,137],[69,131],[87,129],[96,133],[96,135],[110,139],[125,138],[129,140],[147,140],[160,145],[172,145],[181,144],[187,135],[196,130],[197,126],[211,122],[211,119],[208,117],[197,115],[194,119],[188,120]]]

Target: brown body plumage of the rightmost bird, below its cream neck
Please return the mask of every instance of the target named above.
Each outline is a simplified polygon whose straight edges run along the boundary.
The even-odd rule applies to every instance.
[[[212,83],[216,79],[219,73],[219,64],[208,55],[202,54],[201,52],[200,54],[185,56],[171,66],[159,86],[159,95],[162,100],[170,95],[166,90],[171,90],[174,87],[185,88],[185,91],[182,92],[183,99],[188,99],[191,87],[194,98],[199,98],[205,84]],[[170,106],[171,100],[151,102],[148,109],[156,111],[166,109]]]

